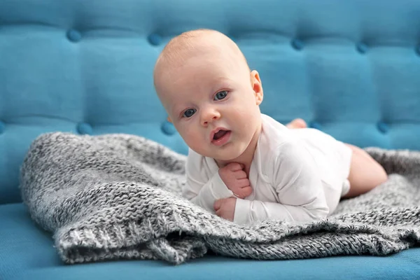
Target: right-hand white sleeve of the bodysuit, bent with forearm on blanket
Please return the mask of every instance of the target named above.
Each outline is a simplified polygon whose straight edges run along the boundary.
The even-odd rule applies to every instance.
[[[297,144],[286,142],[274,151],[272,182],[279,203],[237,199],[235,223],[246,224],[265,219],[307,222],[325,218],[328,205],[321,177],[309,152]]]

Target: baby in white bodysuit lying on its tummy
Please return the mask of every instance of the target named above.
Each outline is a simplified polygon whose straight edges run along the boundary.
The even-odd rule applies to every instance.
[[[183,196],[222,218],[313,221],[387,179],[362,149],[303,120],[285,126],[262,114],[258,72],[218,31],[173,38],[153,77],[168,120],[189,146]]]

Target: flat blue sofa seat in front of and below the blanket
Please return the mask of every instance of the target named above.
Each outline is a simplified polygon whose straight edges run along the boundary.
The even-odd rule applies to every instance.
[[[48,232],[22,204],[0,205],[0,279],[418,279],[420,248],[388,257],[340,256],[309,260],[239,260],[216,255],[173,266],[151,260],[64,265]]]

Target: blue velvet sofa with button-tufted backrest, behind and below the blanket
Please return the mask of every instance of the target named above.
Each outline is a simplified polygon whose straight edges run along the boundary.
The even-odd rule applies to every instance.
[[[260,72],[263,113],[360,147],[420,150],[419,0],[0,0],[0,279],[419,279],[419,248],[62,263],[20,197],[29,144],[45,132],[122,132],[186,153],[152,72],[170,38],[201,27],[234,39]]]

